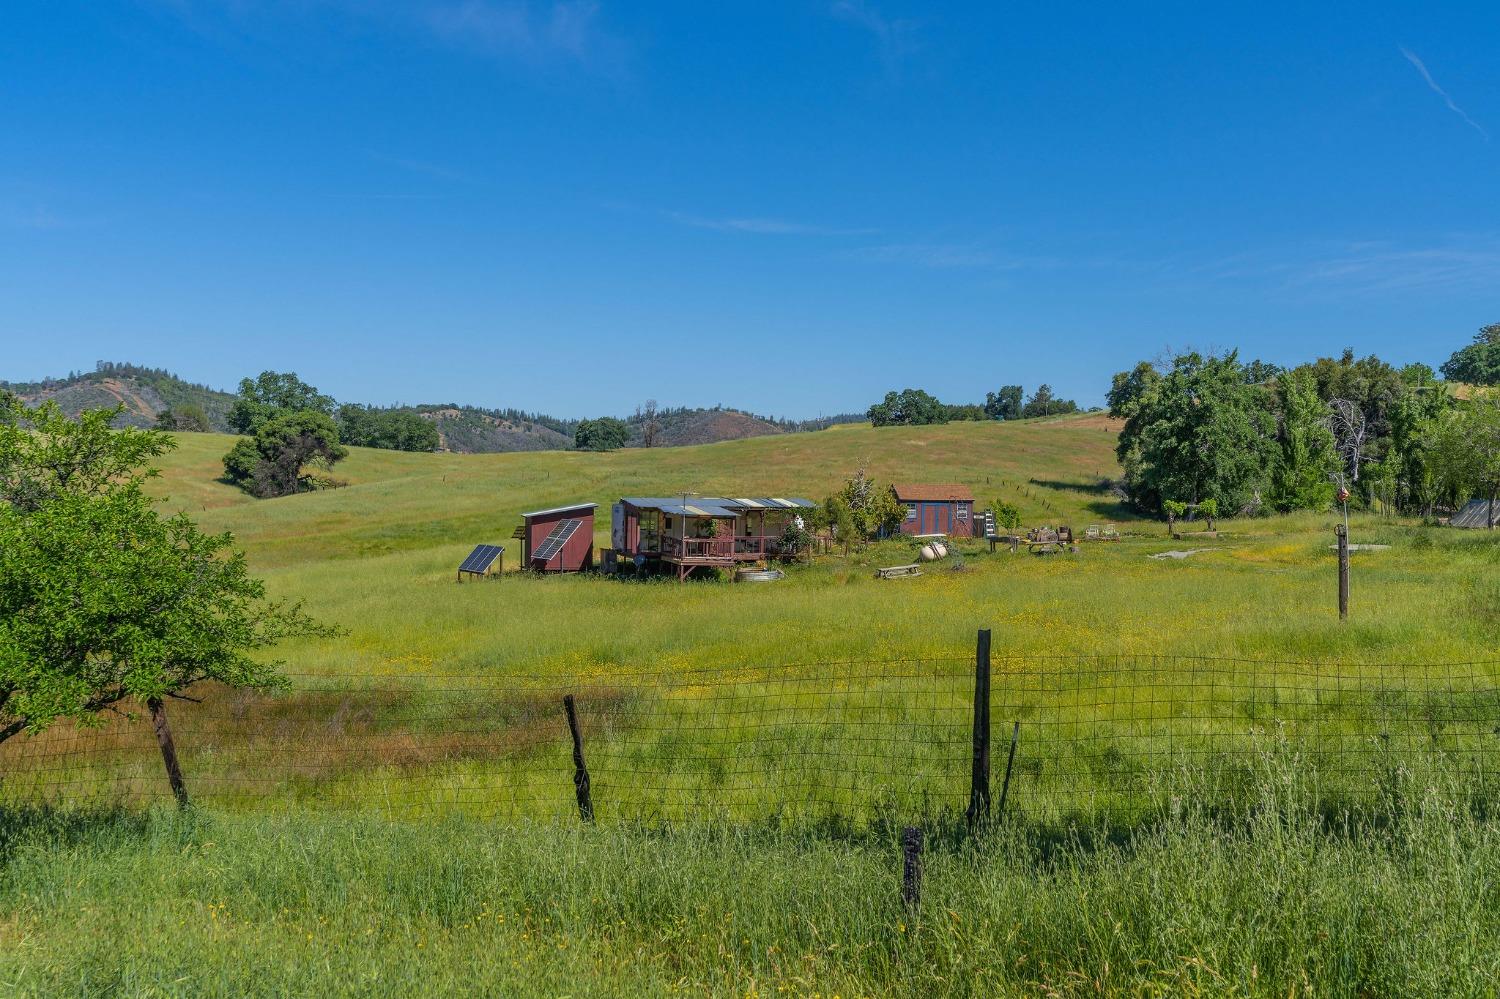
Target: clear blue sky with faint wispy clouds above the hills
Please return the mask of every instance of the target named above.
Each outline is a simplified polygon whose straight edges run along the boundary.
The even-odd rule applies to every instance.
[[[1436,364],[1500,321],[1497,40],[1492,2],[10,0],[0,378],[818,416],[1095,404],[1180,346]]]

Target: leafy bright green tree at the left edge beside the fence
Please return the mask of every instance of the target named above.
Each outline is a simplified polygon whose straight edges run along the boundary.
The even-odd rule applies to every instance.
[[[0,741],[130,699],[160,735],[165,698],[282,687],[280,663],[250,652],[332,633],[266,600],[231,536],[158,513],[142,484],[171,438],[112,430],[118,412],[12,402],[0,422]]]

